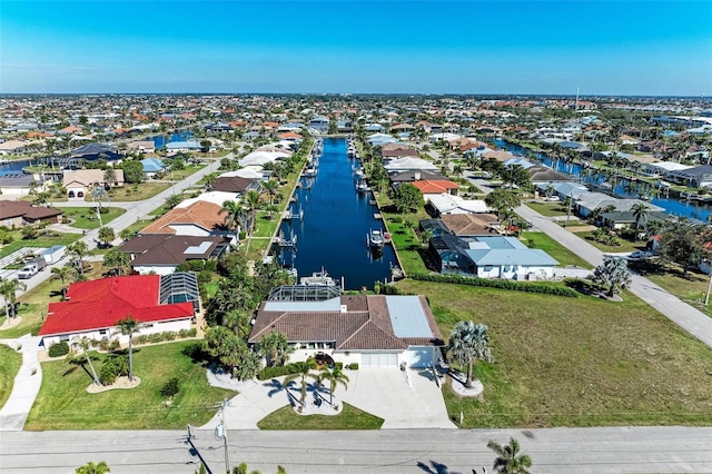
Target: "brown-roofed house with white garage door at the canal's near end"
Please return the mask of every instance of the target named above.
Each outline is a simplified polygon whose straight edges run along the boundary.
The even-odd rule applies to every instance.
[[[444,346],[424,296],[337,294],[322,300],[267,300],[257,312],[248,343],[259,344],[273,330],[287,336],[294,348],[290,363],[316,357],[345,365],[431,367]]]

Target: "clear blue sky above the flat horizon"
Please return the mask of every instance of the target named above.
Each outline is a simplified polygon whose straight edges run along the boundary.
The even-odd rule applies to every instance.
[[[712,0],[0,2],[0,92],[712,95]]]

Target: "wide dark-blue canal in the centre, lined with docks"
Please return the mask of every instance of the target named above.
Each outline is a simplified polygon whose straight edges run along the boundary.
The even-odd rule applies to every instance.
[[[370,204],[373,195],[356,191],[354,161],[345,139],[324,139],[316,177],[301,178],[290,205],[301,209],[304,218],[281,224],[285,238],[296,235],[296,250],[281,248],[276,256],[299,277],[325,269],[337,280],[344,278],[346,289],[370,289],[390,278],[396,257],[390,245],[378,254],[366,245],[370,229],[383,229],[383,223],[374,217],[378,209]]]

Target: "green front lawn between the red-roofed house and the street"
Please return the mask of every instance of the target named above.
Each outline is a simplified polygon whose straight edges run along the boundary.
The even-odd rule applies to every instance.
[[[91,376],[66,361],[42,364],[42,387],[32,406],[28,431],[43,429],[184,429],[207,423],[217,404],[234,392],[208,385],[206,368],[184,349],[194,340],[141,346],[134,350],[134,372],[141,384],[131,389],[89,394]],[[92,353],[97,371],[105,354]],[[88,371],[88,368],[87,368]],[[160,388],[171,377],[180,392],[171,406]]]

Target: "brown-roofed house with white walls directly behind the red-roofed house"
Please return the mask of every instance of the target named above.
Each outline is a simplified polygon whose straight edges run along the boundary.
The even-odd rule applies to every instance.
[[[219,236],[179,236],[147,234],[125,241],[120,247],[140,275],[168,275],[188,260],[217,259],[229,250],[230,239]]]

